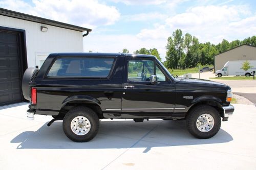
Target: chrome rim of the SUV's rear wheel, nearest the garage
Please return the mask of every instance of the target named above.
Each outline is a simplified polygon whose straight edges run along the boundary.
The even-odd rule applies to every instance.
[[[91,124],[88,118],[84,116],[77,116],[73,118],[70,124],[72,132],[76,135],[85,135],[91,129]]]

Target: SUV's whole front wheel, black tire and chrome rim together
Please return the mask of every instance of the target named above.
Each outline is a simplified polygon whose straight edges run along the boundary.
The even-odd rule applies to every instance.
[[[210,138],[220,130],[221,117],[211,106],[201,105],[192,109],[186,117],[187,130],[200,139]]]

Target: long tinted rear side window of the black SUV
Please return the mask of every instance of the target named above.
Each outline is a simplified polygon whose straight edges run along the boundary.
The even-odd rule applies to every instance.
[[[113,58],[62,57],[55,60],[48,77],[108,77]]]

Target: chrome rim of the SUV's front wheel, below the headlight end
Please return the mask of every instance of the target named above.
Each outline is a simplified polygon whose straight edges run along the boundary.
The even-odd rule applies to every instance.
[[[214,127],[214,117],[210,114],[202,114],[197,118],[197,129],[200,132],[209,132]]]

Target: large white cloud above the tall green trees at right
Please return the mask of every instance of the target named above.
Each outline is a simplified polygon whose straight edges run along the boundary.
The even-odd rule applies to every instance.
[[[165,25],[155,29],[142,29],[139,38],[163,39],[181,29],[183,35],[190,33],[201,42],[219,43],[222,39],[232,41],[255,34],[256,16],[250,16],[247,6],[199,6],[184,13],[170,16]],[[163,39],[165,41],[165,39]]]

